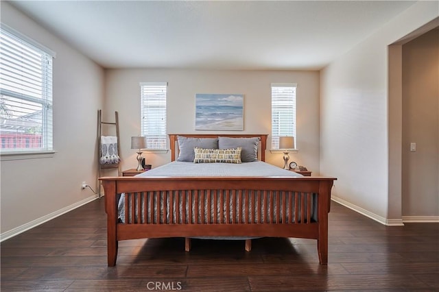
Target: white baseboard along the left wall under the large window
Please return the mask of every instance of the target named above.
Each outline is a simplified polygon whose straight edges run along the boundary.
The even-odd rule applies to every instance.
[[[25,223],[22,226],[19,226],[17,228],[12,229],[12,230],[8,230],[6,232],[3,232],[2,234],[0,234],[0,242],[1,241],[5,241],[6,239],[10,239],[11,237],[19,235],[19,234],[21,234],[21,233],[23,233],[23,232],[25,232],[25,231],[27,231],[29,229],[32,229],[32,228],[34,228],[34,227],[36,227],[38,225],[41,225],[41,224],[43,224],[43,223],[45,223],[45,222],[47,222],[47,221],[49,221],[51,219],[54,219],[54,218],[56,218],[58,216],[61,216],[61,215],[65,214],[65,213],[67,213],[67,212],[70,212],[71,210],[74,210],[75,208],[79,208],[80,206],[83,206],[83,205],[85,205],[85,204],[87,204],[89,202],[92,202],[92,201],[94,201],[97,198],[98,198],[97,195],[88,197],[86,199],[83,199],[80,202],[76,202],[75,204],[71,204],[70,206],[67,206],[67,207],[62,208],[60,210],[52,212],[52,213],[50,213],[48,215],[45,215],[43,217],[40,217],[38,219],[35,219],[35,220],[30,221],[28,223]]]

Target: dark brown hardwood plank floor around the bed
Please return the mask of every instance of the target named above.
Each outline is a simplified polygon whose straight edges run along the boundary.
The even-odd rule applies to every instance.
[[[107,267],[104,199],[1,243],[1,291],[439,291],[439,224],[386,227],[332,202],[316,241],[121,241]]]

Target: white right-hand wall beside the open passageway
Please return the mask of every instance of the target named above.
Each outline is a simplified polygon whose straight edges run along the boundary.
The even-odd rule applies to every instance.
[[[388,194],[388,45],[438,13],[417,2],[321,71],[320,171],[338,178],[335,199],[383,223],[401,219]]]

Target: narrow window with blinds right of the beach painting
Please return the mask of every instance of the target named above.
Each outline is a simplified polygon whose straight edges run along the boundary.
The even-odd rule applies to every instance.
[[[297,84],[272,84],[272,149],[279,149],[280,136],[296,138]]]

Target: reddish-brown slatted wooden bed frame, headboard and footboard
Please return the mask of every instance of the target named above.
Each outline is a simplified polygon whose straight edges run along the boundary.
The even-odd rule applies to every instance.
[[[169,134],[172,161],[176,158],[177,136],[195,138],[257,136],[261,141],[261,143],[259,143],[260,160],[265,161],[265,149],[268,136],[266,134]],[[194,236],[272,236],[317,239],[320,264],[326,265],[328,263],[328,213],[330,210],[331,188],[333,181],[336,180],[335,178],[313,176],[298,178],[107,177],[99,178],[99,180],[102,181],[105,194],[109,267],[116,265],[118,241],[143,238],[185,237],[185,250],[189,251],[189,238]],[[185,192],[179,193],[179,191]],[[285,194],[282,196],[283,204],[270,204],[271,210],[269,210],[270,208],[266,207],[268,206],[267,201],[271,199],[271,203],[273,203],[273,195],[270,194],[278,191],[283,191],[283,194]],[[139,204],[139,206],[141,204],[140,195],[134,195],[136,195],[136,193],[145,192],[152,194],[154,202],[160,202],[161,199],[163,200],[163,198],[167,197],[168,200],[171,200],[171,204],[169,204],[168,208],[163,208],[160,212],[161,214],[154,215],[156,216],[154,218],[152,218],[153,215],[142,214],[140,210],[134,208],[134,200],[138,200],[137,204]],[[202,199],[198,200],[199,192]],[[260,202],[254,202],[254,196],[252,196],[250,192],[260,194],[257,199]],[[117,204],[119,194],[121,193],[134,193],[134,195],[131,196],[132,223],[121,223],[118,219]],[[311,219],[310,203],[313,194],[317,194],[317,220]],[[206,195],[206,199],[209,199],[209,202],[215,200],[215,204],[209,204],[207,207],[203,206],[204,195]],[[194,199],[192,199],[192,196]],[[223,208],[223,197],[226,197],[227,201],[230,198],[231,202],[233,202],[233,206],[229,208],[229,206],[225,204],[226,208]],[[281,196],[276,197],[280,200],[279,198]],[[191,208],[188,208],[189,214],[185,214],[186,210],[183,209],[183,215],[181,217],[201,219],[183,220],[182,218],[178,218],[178,212],[173,212],[172,210],[173,198],[178,198],[181,204],[191,205]],[[287,199],[287,201],[285,201],[285,199]],[[217,200],[221,202],[216,204]],[[244,204],[243,206],[243,201],[252,202],[252,208],[248,207],[249,204]],[[285,217],[288,216],[288,214],[286,214],[285,202],[290,202],[289,204],[294,202],[294,206],[290,205],[289,217]],[[144,204],[146,207],[146,202]],[[159,204],[160,203],[157,204],[157,207],[159,207]],[[261,208],[261,206],[265,206],[265,208]],[[209,208],[209,210],[205,210],[205,208]],[[211,208],[213,208],[213,210],[211,210]],[[274,215],[275,212],[272,210],[273,208],[277,208],[276,215]],[[283,208],[283,210],[279,210],[279,208]],[[292,213],[292,209],[294,213]],[[193,212],[195,212],[195,214],[191,214],[192,210],[194,210]],[[232,219],[225,216],[225,214],[231,214],[230,212],[233,212],[233,216],[231,216]],[[239,214],[235,212],[239,212]],[[217,214],[220,215],[217,216]],[[255,214],[257,214],[256,217]],[[148,217],[150,220],[146,220],[146,218],[144,220],[144,222],[150,223],[137,223],[135,218],[141,218],[142,216],[151,216],[151,218]],[[208,219],[204,219],[205,217],[208,217]],[[259,221],[253,221],[258,219],[258,217]],[[166,218],[169,218],[169,220],[167,221]],[[294,218],[294,221],[291,220],[292,218]],[[246,240],[246,250],[248,251],[250,250],[250,244],[251,241]]]

